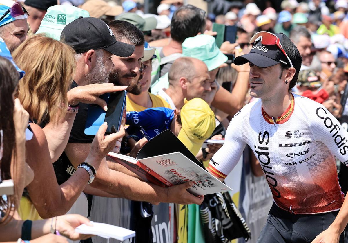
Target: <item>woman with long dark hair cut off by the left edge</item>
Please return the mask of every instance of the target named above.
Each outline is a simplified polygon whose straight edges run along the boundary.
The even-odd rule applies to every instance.
[[[0,44],[1,45],[1,44]],[[0,178],[13,179],[15,195],[7,196],[3,200],[0,194],[0,241],[16,241],[21,237],[24,221],[14,219],[13,213],[17,208],[17,194],[22,195],[24,185],[27,185],[32,176],[25,171],[25,129],[28,125],[29,114],[23,109],[18,99],[14,99],[17,91],[19,75],[12,63],[0,57]],[[89,220],[81,215],[64,215],[57,218],[32,222],[31,236],[37,238],[31,243],[67,242],[62,236],[50,233],[52,223],[60,234],[73,239],[86,239],[88,235],[74,232],[80,224],[89,224]],[[14,243],[14,242],[13,242]]]

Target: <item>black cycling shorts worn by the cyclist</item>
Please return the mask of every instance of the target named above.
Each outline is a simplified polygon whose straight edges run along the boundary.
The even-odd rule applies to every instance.
[[[273,203],[256,243],[310,243],[330,226],[338,212],[292,214]],[[339,243],[347,242],[343,232]]]

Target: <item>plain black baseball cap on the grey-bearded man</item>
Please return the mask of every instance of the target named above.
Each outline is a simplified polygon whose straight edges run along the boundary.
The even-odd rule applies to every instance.
[[[119,57],[129,57],[135,48],[134,45],[117,41],[103,20],[92,17],[79,17],[66,25],[61,34],[61,41],[70,45],[76,53],[104,49]]]

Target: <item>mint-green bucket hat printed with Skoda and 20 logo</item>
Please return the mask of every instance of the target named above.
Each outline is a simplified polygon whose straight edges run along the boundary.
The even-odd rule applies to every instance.
[[[49,7],[36,34],[46,33],[48,37],[59,41],[64,27],[80,16],[86,18],[89,17],[89,13],[86,10],[70,5]]]

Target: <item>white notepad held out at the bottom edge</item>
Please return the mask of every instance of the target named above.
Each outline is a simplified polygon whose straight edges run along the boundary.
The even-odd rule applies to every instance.
[[[93,226],[82,224],[77,226],[75,231],[80,234],[97,235],[106,239],[113,238],[119,241],[124,241],[135,236],[135,231],[126,228],[103,223],[94,223],[93,221],[90,221],[90,223]]]

